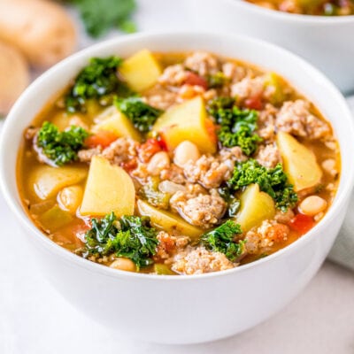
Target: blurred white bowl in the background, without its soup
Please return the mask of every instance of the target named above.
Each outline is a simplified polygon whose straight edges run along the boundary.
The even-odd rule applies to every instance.
[[[268,10],[244,0],[191,0],[200,29],[254,36],[292,50],[344,93],[354,91],[354,16],[309,16]]]

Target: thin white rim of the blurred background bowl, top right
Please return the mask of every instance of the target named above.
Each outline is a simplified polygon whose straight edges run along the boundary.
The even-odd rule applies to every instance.
[[[343,23],[354,22],[354,15],[347,16],[313,16],[313,15],[304,15],[299,13],[289,13],[289,12],[280,12],[276,10],[266,9],[266,7],[258,6],[257,4],[248,3],[245,0],[226,0],[231,5],[239,5],[250,12],[258,13],[259,15],[268,16],[273,19],[281,19],[287,22],[297,22],[297,23],[306,23],[306,24],[315,24],[315,25],[340,25]]]

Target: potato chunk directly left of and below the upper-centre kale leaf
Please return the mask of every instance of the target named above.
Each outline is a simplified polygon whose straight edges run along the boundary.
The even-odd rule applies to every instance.
[[[137,142],[142,141],[142,136],[135,129],[133,123],[127,119],[122,112],[119,112],[115,106],[111,106],[104,110],[104,112],[96,117],[96,121],[98,123],[92,128],[93,132],[105,130],[112,132],[119,138],[127,137]]]

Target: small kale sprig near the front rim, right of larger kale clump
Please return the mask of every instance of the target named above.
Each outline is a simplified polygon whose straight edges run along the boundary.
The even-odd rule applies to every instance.
[[[208,250],[224,253],[231,262],[242,255],[244,241],[235,242],[235,235],[242,234],[239,224],[227,220],[224,224],[202,235],[202,243]]]

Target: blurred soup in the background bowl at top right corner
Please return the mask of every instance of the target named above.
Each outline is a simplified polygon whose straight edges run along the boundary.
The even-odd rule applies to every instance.
[[[315,16],[354,15],[352,0],[246,0],[270,10]]]

